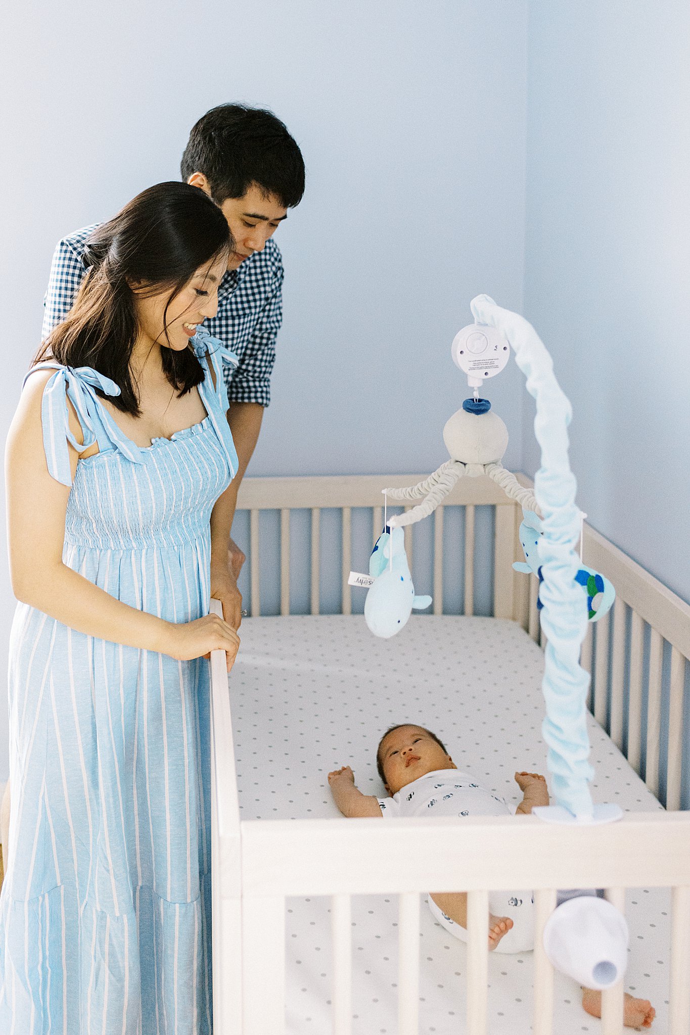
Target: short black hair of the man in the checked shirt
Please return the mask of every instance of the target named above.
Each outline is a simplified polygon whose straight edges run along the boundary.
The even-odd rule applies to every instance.
[[[286,208],[304,194],[302,152],[272,112],[218,105],[197,122],[180,162],[182,179],[203,173],[217,205],[241,198],[252,183]]]

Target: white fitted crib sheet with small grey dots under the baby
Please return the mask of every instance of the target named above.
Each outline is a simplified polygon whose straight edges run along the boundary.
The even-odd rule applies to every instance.
[[[351,765],[364,794],[382,794],[374,752],[384,730],[415,722],[446,743],[459,768],[514,805],[515,770],[546,773],[541,739],[543,654],[514,622],[413,616],[377,640],[360,616],[252,618],[231,676],[242,819],[337,816],[327,773]],[[596,801],[626,810],[661,805],[591,720]],[[348,821],[342,820],[343,823]],[[382,820],[382,822],[385,822]],[[626,987],[667,1030],[669,893],[629,891]],[[290,898],[287,915],[288,1031],[329,1035],[330,900]],[[353,1033],[397,1031],[397,897],[353,898]],[[488,1030],[531,1030],[533,955],[489,955]],[[420,1033],[466,1030],[467,947],[421,909]],[[574,981],[557,975],[558,1035],[600,1032]]]

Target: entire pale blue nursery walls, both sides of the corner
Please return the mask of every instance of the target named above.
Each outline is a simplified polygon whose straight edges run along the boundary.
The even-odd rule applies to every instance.
[[[523,0],[27,0],[5,30],[3,439],[55,241],[176,178],[207,108],[265,105],[308,186],[276,238],[286,319],[251,473],[433,469],[464,394],[449,344],[487,291],[553,353],[592,524],[690,599],[686,3],[533,0],[529,82]],[[489,395],[507,463],[534,472],[517,371]],[[3,558],[2,671],[12,610]],[[0,779],[6,735],[2,706]]]

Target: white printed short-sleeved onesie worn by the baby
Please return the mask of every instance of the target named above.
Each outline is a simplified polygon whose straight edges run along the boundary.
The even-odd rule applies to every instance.
[[[491,794],[469,773],[437,769],[408,783],[392,798],[378,798],[384,817],[407,816],[512,816],[503,798]],[[461,888],[458,890],[462,890]],[[455,938],[466,942],[468,933],[443,913],[431,896],[433,917]],[[534,898],[531,891],[490,891],[489,911],[509,916],[511,930],[499,942],[497,952],[527,952],[534,947]]]

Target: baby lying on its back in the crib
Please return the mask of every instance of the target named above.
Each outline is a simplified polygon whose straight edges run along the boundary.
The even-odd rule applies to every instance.
[[[377,750],[379,775],[389,794],[386,798],[364,795],[355,787],[350,766],[328,774],[328,782],[343,816],[510,816],[503,798],[485,790],[468,773],[460,772],[442,741],[420,726],[394,726],[381,738]],[[516,815],[529,816],[536,805],[548,805],[546,780],[538,773],[518,772],[515,780],[522,792]],[[452,935],[467,941],[468,896],[466,892],[433,892],[428,898],[434,918]],[[534,946],[531,892],[499,891],[489,894],[488,947],[499,952],[523,952]],[[601,993],[582,989],[582,1006],[601,1016]],[[626,995],[625,1024],[650,1028],[655,1010],[647,1000]]]

